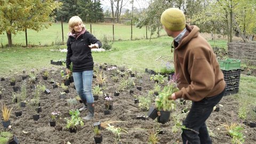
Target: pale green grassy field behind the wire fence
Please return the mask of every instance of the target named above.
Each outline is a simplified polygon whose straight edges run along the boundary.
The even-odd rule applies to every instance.
[[[91,26],[90,26],[91,25]],[[107,36],[109,41],[113,40],[113,24],[95,24],[85,23],[85,27],[88,31],[92,30],[92,34],[98,39],[103,39]],[[67,41],[68,24],[63,23],[63,38],[64,42]],[[114,39],[115,41],[130,40],[131,39],[131,26],[114,24]],[[160,36],[165,35],[165,31],[162,29],[159,33]],[[62,42],[62,30],[61,23],[52,23],[48,29],[44,29],[36,32],[35,30],[27,30],[28,45],[53,45]],[[150,38],[150,30],[147,31],[147,37]],[[154,38],[157,34],[153,35]],[[141,29],[136,26],[132,27],[132,39],[146,39],[146,27]],[[26,45],[25,32],[18,32],[17,35],[12,34],[13,44]],[[6,33],[0,35],[0,43],[2,45],[8,44]]]

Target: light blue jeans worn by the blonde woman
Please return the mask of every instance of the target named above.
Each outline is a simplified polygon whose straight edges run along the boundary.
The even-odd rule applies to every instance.
[[[74,83],[76,91],[82,100],[86,100],[87,103],[93,103],[94,98],[92,94],[92,76],[93,70],[74,72]]]

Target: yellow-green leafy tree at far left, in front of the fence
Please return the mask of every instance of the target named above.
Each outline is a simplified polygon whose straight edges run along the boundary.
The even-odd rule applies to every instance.
[[[54,20],[53,11],[60,5],[54,0],[0,1],[0,34],[6,32],[11,47],[12,34],[26,29],[39,31],[48,28]]]

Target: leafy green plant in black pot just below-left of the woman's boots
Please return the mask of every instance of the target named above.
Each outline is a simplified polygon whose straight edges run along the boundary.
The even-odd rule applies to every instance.
[[[67,121],[67,129],[69,129],[69,132],[77,132],[77,125],[80,124],[81,126],[84,125],[84,122],[81,117],[79,117],[79,110],[69,110],[69,114],[71,115],[70,119],[65,118]]]

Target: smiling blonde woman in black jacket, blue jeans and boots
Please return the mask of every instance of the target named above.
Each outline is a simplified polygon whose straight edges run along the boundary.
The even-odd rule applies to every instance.
[[[92,95],[93,58],[91,49],[101,47],[101,42],[90,34],[78,16],[69,19],[69,34],[67,42],[66,72],[70,73],[70,63],[73,63],[73,77],[76,91],[84,103],[79,111],[88,108],[88,115],[83,117],[90,120],[94,116],[94,99]]]

